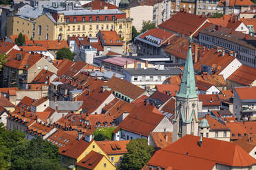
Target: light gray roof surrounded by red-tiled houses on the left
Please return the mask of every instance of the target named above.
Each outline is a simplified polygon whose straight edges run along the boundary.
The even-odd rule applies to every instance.
[[[49,106],[56,110],[58,106],[59,111],[77,111],[83,104],[83,101],[50,101]]]

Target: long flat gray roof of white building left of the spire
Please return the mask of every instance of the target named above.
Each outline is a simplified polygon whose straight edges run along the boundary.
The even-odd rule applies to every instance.
[[[155,68],[148,69],[126,69],[130,75],[180,75],[182,70],[179,68],[169,68],[168,70],[158,70]]]

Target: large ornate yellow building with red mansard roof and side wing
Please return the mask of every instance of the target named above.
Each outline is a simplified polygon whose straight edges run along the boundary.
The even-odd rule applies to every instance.
[[[33,40],[67,40],[69,36],[95,37],[99,30],[114,30],[128,52],[132,19],[129,8],[105,10],[54,11],[36,19],[8,16],[7,36],[26,34]]]

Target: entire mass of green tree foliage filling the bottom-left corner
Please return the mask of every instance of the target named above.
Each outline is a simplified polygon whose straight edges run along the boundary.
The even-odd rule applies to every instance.
[[[0,123],[0,170],[2,169],[50,169],[61,167],[58,147],[43,138],[25,139],[25,133],[7,130]]]

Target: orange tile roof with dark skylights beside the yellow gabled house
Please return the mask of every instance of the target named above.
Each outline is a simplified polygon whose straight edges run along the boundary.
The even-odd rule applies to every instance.
[[[130,141],[96,141],[98,146],[103,149],[107,155],[127,153],[126,145]]]

